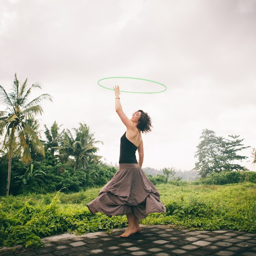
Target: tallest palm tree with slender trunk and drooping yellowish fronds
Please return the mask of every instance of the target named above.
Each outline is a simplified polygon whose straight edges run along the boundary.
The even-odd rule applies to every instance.
[[[34,88],[41,89],[41,86],[39,84],[32,84],[28,88],[27,81],[28,78],[20,85],[15,73],[12,92],[9,94],[0,85],[0,101],[6,105],[6,111],[0,111],[0,135],[3,135],[6,129],[4,147],[7,149],[9,157],[6,195],[9,195],[14,152],[20,152],[21,160],[28,164],[31,161],[31,152],[27,143],[29,138],[37,152],[44,156],[43,144],[31,127],[31,116],[42,115],[43,108],[39,103],[42,100],[52,101],[52,96],[45,93],[34,100],[28,101],[31,90]]]

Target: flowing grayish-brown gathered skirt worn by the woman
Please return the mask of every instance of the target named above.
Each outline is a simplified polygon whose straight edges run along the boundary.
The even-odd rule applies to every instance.
[[[166,212],[159,192],[139,164],[120,164],[114,177],[87,207],[93,214],[134,214],[138,219],[151,212]]]

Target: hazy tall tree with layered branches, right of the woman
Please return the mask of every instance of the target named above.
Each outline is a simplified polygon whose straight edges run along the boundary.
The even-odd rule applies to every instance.
[[[212,130],[204,129],[198,144],[195,157],[197,162],[194,170],[199,171],[202,177],[212,172],[221,171],[239,171],[243,170],[239,164],[234,164],[234,160],[246,159],[246,156],[240,156],[238,151],[248,148],[243,147],[243,141],[238,139],[238,135],[228,135],[231,139],[216,136]]]

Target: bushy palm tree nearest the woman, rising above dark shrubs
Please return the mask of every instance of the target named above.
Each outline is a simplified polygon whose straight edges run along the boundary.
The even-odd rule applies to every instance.
[[[54,147],[59,150],[59,156],[61,159],[65,159],[65,162],[71,162],[71,159],[68,159],[69,156],[73,156],[75,158],[74,171],[78,166],[79,160],[81,161],[83,169],[85,169],[86,165],[88,165],[90,161],[96,163],[101,156],[95,155],[99,149],[95,147],[95,144],[103,144],[102,141],[95,140],[94,133],[90,133],[90,129],[86,124],[79,124],[80,127],[78,129],[73,128],[76,132],[75,139],[73,138],[70,130],[67,129],[61,142],[62,145],[60,147]]]

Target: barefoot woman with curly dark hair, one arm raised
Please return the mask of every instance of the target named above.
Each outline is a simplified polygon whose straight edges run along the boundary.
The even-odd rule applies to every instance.
[[[145,218],[151,212],[166,212],[159,200],[160,195],[142,171],[144,158],[141,133],[151,131],[151,118],[142,110],[132,114],[129,119],[122,109],[119,98],[119,86],[114,87],[116,95],[116,112],[124,125],[126,132],[121,137],[119,170],[114,177],[100,190],[99,196],[87,204],[89,210],[112,215],[126,214],[128,228],[120,237],[127,237],[140,232],[139,219]],[[139,163],[135,152],[138,150]]]

